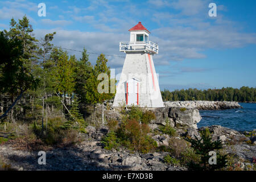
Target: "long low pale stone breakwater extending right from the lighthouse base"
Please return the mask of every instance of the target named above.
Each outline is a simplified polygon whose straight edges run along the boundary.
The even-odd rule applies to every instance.
[[[164,105],[168,107],[185,107],[199,110],[224,110],[242,108],[238,102],[230,101],[166,101],[164,102]]]

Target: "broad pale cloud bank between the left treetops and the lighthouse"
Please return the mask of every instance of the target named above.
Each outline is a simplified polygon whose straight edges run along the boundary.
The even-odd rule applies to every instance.
[[[114,34],[108,32],[82,32],[79,30],[63,30],[54,28],[51,30],[35,30],[36,38],[43,38],[44,35],[56,31],[53,43],[55,46],[63,48],[75,49],[82,51],[85,47],[88,52],[104,53],[105,55],[125,56],[119,52],[119,40],[122,40],[123,34]],[[70,54],[75,54],[76,57],[81,57],[80,52],[68,51]],[[95,64],[98,55],[90,54],[90,61]],[[109,60],[111,68],[122,68],[124,57],[106,56]]]

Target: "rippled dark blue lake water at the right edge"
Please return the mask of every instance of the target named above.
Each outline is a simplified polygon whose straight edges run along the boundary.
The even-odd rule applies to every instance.
[[[200,110],[197,127],[221,125],[237,131],[256,129],[256,104],[240,103],[242,109]]]

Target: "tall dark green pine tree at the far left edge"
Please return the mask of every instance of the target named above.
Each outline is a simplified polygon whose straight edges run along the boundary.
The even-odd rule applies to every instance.
[[[14,53],[16,51],[16,57],[14,59],[9,57],[8,64],[3,65],[2,67],[2,81],[3,90],[10,94],[11,101],[13,104],[6,110],[6,112],[1,116],[4,117],[11,110],[11,119],[13,118],[13,106],[16,102],[22,97],[23,93],[28,89],[35,89],[38,86],[39,79],[35,78],[35,65],[36,65],[36,40],[32,35],[33,28],[29,23],[29,20],[26,16],[23,16],[23,19],[19,20],[19,23],[16,23],[14,19],[11,19],[10,22],[10,31],[1,32],[1,51],[6,53],[1,53],[3,61],[7,61],[8,57],[2,56],[9,53]],[[3,39],[5,38],[5,39]],[[13,44],[15,47],[9,47]],[[11,54],[12,54],[11,53]],[[10,54],[10,55],[11,55]],[[9,55],[9,56],[10,56]],[[6,59],[7,58],[7,59]],[[2,62],[2,61],[1,61]],[[7,80],[5,80],[7,79]],[[16,99],[14,100],[14,98]],[[26,104],[26,98],[24,98]],[[24,109],[26,114],[26,109]]]

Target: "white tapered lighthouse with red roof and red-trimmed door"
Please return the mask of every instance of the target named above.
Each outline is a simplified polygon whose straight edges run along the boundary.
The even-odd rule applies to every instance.
[[[158,44],[149,40],[150,31],[141,22],[130,28],[130,41],[120,42],[125,63],[119,77],[113,107],[163,107],[153,56]]]

